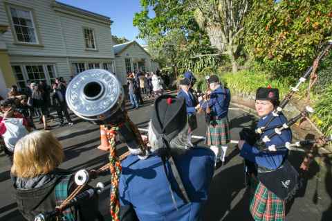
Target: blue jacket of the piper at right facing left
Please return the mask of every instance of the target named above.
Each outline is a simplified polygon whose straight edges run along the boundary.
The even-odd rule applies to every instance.
[[[259,120],[257,123],[257,128],[262,127],[266,124],[266,122],[269,120],[269,118],[272,117],[272,112],[268,114],[267,116],[264,116]],[[273,121],[269,124],[270,126],[273,125],[282,125],[283,123],[286,123],[287,119],[284,116],[284,114],[279,114]],[[264,132],[261,135],[261,138],[263,138],[265,135],[271,134],[274,132],[274,129],[268,130]],[[284,145],[286,142],[292,141],[292,132],[290,129],[282,130],[282,134],[273,136],[272,139],[270,139],[270,142],[266,143],[266,148],[270,145]],[[286,148],[282,150],[278,150],[276,152],[259,152],[257,147],[251,146],[248,143],[244,143],[242,150],[241,150],[241,157],[248,159],[249,161],[252,161],[254,163],[257,163],[259,166],[264,166],[265,168],[274,170],[278,168],[282,162],[284,161],[284,158],[287,156],[288,150]]]

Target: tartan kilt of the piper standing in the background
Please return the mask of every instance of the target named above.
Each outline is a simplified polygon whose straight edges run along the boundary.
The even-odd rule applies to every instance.
[[[213,125],[208,125],[205,134],[205,144],[207,145],[225,145],[230,143],[230,127],[228,117],[220,120],[214,120]]]

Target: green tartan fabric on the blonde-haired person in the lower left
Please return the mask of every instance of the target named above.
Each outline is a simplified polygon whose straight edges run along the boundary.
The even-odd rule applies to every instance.
[[[60,206],[68,197],[68,186],[71,176],[66,176],[55,186],[55,205]],[[64,221],[75,221],[73,208],[68,208],[62,212]]]

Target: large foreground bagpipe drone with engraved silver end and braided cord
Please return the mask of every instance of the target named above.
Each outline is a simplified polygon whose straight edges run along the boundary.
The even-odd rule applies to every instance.
[[[120,161],[131,152],[140,159],[148,157],[147,143],[142,140],[136,125],[130,120],[124,109],[124,91],[122,85],[109,71],[90,69],[78,74],[69,82],[66,89],[66,103],[74,114],[95,125],[101,125],[107,130],[110,144],[109,163],[98,170],[80,170],[75,174],[77,188],[68,198],[79,196],[83,187],[109,170],[111,173],[110,212],[114,221],[120,220],[120,202],[118,199],[118,184],[121,173]],[[127,143],[129,151],[120,157],[116,152],[116,137],[120,134]],[[86,199],[85,197],[81,199]],[[77,202],[77,201],[76,201]],[[73,202],[75,204],[75,202]],[[55,209],[59,213],[59,209]],[[55,211],[47,213],[48,217]]]

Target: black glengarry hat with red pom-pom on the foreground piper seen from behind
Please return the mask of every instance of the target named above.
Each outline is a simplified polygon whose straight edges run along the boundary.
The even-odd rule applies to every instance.
[[[183,98],[163,95],[156,99],[151,118],[152,126],[158,136],[172,140],[187,124],[187,109]]]

